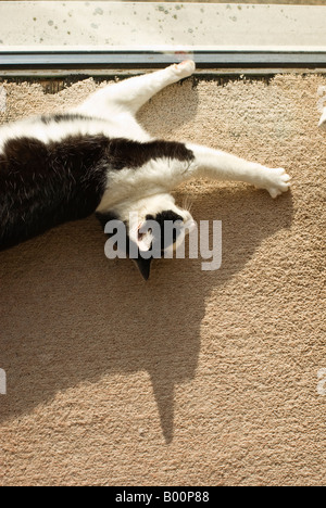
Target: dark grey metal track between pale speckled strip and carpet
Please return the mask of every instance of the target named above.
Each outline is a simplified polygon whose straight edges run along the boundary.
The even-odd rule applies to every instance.
[[[326,51],[218,50],[173,51],[1,51],[0,69],[155,68],[192,58],[200,68],[326,68]]]

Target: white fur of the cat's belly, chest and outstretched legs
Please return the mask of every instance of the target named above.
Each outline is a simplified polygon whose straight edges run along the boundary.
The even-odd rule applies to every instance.
[[[110,138],[124,137],[137,141],[152,138],[136,120],[138,110],[164,87],[190,76],[195,63],[186,61],[165,69],[133,77],[114,84],[91,94],[82,105],[70,110],[72,113],[89,115],[89,122],[78,119],[45,125],[37,119],[27,119],[0,128],[0,152],[9,138],[28,136],[40,141],[60,141],[71,135],[105,135]],[[155,215],[173,209],[187,221],[189,212],[175,205],[170,192],[181,182],[197,177],[216,180],[237,180],[266,189],[272,198],[289,189],[290,177],[283,168],[267,168],[247,162],[228,153],[197,144],[186,144],[195,154],[191,164],[177,160],[159,158],[150,161],[136,172],[124,168],[108,174],[108,192],[98,212],[116,211],[123,218],[137,212],[140,220],[146,215]]]

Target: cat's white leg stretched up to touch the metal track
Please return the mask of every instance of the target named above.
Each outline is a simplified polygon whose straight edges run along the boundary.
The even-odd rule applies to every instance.
[[[187,60],[154,73],[124,79],[98,90],[75,111],[92,115],[98,112],[100,116],[104,116],[105,112],[112,114],[112,112],[127,111],[135,115],[155,93],[164,87],[190,76],[195,68],[195,63]]]

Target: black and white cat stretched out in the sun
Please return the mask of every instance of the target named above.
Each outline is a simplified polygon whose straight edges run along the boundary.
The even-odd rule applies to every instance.
[[[0,250],[62,223],[97,213],[102,224],[125,223],[139,250],[142,276],[150,272],[150,219],[192,220],[171,191],[190,178],[238,180],[272,198],[289,189],[283,168],[267,168],[191,143],[152,139],[137,111],[167,85],[190,76],[192,61],[123,80],[64,114],[24,119],[0,128]],[[137,213],[138,224],[129,217]],[[131,214],[131,215],[130,215]]]

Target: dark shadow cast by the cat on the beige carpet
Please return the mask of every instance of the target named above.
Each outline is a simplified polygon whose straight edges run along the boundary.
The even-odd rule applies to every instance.
[[[223,221],[220,270],[201,271],[201,259],[159,259],[145,282],[130,261],[104,257],[93,217],[0,253],[0,367],[8,377],[1,421],[80,382],[146,371],[172,442],[175,389],[196,376],[205,299],[264,239],[290,227],[292,201],[290,193],[273,201],[263,191],[215,188],[192,213]]]

